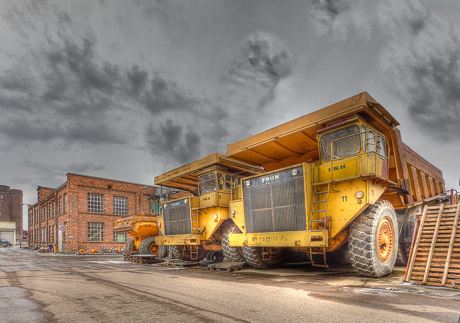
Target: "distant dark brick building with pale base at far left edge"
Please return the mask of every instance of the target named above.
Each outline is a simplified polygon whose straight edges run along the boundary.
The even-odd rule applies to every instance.
[[[0,185],[0,238],[11,242],[23,238],[22,202],[22,190]],[[12,224],[13,222],[15,224]]]

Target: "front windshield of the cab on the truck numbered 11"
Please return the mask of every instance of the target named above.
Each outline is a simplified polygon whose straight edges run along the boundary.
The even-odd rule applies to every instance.
[[[331,160],[331,142],[340,138],[344,139],[336,140],[333,144],[334,159],[358,154],[361,151],[361,138],[359,135],[353,136],[353,134],[359,134],[359,127],[357,124],[337,129],[328,134],[323,134],[320,139],[322,160]]]

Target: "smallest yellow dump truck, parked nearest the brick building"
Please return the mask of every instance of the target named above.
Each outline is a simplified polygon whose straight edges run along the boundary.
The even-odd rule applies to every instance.
[[[114,231],[131,234],[125,248],[127,255],[140,253],[142,255],[165,256],[166,248],[155,244],[155,237],[160,234],[158,214],[139,212],[137,215],[117,219]]]

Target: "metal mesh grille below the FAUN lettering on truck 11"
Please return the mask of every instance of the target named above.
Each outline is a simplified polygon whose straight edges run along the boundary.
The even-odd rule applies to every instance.
[[[243,189],[243,203],[247,233],[307,228],[303,177]]]

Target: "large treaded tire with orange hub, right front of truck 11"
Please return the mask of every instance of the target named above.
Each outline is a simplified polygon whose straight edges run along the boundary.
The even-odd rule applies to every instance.
[[[378,200],[349,226],[349,254],[355,273],[383,277],[395,266],[398,228],[395,209],[387,200]]]

